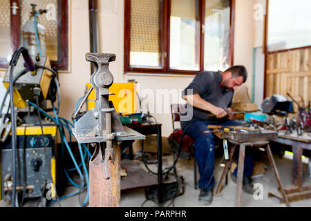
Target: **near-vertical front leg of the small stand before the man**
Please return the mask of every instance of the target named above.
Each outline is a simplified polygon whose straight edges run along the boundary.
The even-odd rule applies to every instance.
[[[240,153],[238,155],[238,177],[236,179],[236,207],[241,206],[244,158],[245,158],[245,145],[240,144]]]

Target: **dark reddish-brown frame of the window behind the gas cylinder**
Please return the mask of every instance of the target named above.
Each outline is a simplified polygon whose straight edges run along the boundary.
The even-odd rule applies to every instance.
[[[17,4],[17,14],[12,14],[13,2]],[[21,46],[21,10],[19,0],[10,0],[10,30],[11,48],[14,52]],[[57,0],[57,28],[58,28],[58,60],[50,61],[52,67],[58,70],[68,70],[68,0]],[[8,68],[10,61],[0,58],[0,68]]]

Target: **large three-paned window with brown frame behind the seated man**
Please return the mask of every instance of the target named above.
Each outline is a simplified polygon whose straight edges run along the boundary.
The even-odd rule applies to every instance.
[[[232,66],[234,0],[124,3],[124,72],[195,74]]]

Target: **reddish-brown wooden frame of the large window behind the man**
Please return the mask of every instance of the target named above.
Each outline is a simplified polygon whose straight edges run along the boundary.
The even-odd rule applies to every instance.
[[[198,52],[199,70],[177,70],[169,68],[170,50],[170,16],[171,0],[160,0],[160,65],[162,68],[138,68],[130,66],[131,52],[131,0],[124,1],[124,74],[126,73],[162,73],[178,75],[195,75],[204,70],[204,26],[205,26],[205,2],[208,0],[198,0],[198,25],[196,28],[196,39],[199,40],[196,50]],[[229,21],[229,66],[234,64],[234,21],[235,21],[235,0],[230,1],[230,21]],[[161,41],[162,39],[162,41]],[[162,50],[161,50],[162,49]],[[165,56],[164,56],[165,55]]]

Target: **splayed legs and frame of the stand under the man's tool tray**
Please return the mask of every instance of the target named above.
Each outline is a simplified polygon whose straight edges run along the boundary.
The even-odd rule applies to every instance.
[[[274,158],[272,155],[272,151],[270,148],[270,142],[269,141],[264,141],[264,142],[236,142],[233,140],[228,140],[230,143],[234,144],[232,146],[230,153],[229,153],[229,160],[227,160],[225,169],[223,170],[223,173],[220,177],[220,181],[218,183],[217,189],[216,189],[216,194],[219,194],[221,191],[221,188],[223,187],[223,180],[225,178],[225,175],[227,174],[227,171],[229,169],[229,166],[231,165],[232,162],[232,157],[234,155],[234,151],[236,149],[236,146],[240,146],[240,153],[238,155],[238,177],[236,180],[236,206],[239,207],[241,206],[241,195],[242,195],[242,185],[243,185],[243,171],[244,171],[244,158],[245,158],[245,146],[266,146],[267,150],[267,156],[269,158],[270,164],[272,166],[274,175],[276,177],[276,181],[279,184],[279,189],[281,190],[281,193],[283,195],[283,199],[286,203],[286,206],[290,206],[290,203],[288,202],[288,197],[285,194],[285,191],[283,189],[283,185],[280,180],[280,175],[279,171],[276,169],[276,164],[274,162]]]

